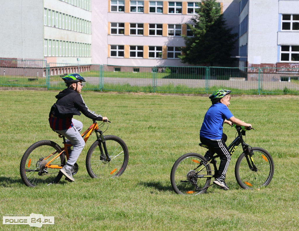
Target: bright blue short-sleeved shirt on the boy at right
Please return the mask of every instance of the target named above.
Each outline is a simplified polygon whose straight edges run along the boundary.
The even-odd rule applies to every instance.
[[[215,103],[205,114],[204,122],[200,128],[199,135],[210,140],[221,140],[224,120],[234,115],[223,103]]]

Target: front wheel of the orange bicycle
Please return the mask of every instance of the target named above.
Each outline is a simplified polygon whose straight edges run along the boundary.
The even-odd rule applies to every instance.
[[[105,153],[101,155],[99,140],[89,148],[86,155],[86,169],[91,178],[116,177],[123,174],[129,161],[129,151],[126,143],[117,136],[104,136],[110,161],[106,160]],[[100,144],[101,145],[101,144]]]

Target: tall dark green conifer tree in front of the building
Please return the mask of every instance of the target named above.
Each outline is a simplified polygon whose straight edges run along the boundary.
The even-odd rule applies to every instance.
[[[188,24],[193,37],[183,36],[186,47],[179,58],[192,65],[230,65],[234,59],[231,51],[237,41],[237,33],[227,28],[221,6],[216,0],[202,0],[198,3],[197,15]]]

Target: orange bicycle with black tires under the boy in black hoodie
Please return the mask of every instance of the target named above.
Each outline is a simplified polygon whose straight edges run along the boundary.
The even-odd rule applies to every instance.
[[[86,155],[86,169],[91,178],[120,176],[128,164],[129,151],[126,143],[117,136],[103,135],[109,127],[106,122],[98,126],[93,120],[93,124],[82,134],[85,143],[93,132],[97,135],[97,140]],[[101,131],[100,129],[105,125],[107,125],[106,130]],[[49,185],[60,181],[63,174],[59,170],[65,165],[65,157],[68,160],[72,144],[67,144],[61,134],[58,136],[63,138],[63,149],[51,140],[41,140],[31,145],[24,153],[20,174],[27,186]],[[78,164],[75,163],[72,175],[77,172]]]

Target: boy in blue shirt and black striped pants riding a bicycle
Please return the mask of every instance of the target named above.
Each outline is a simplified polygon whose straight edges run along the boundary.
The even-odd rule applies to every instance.
[[[228,109],[228,105],[230,105],[229,101],[231,99],[229,93],[231,93],[230,90],[219,89],[210,95],[209,98],[212,101],[212,106],[210,106],[205,114],[204,122],[200,129],[200,142],[207,145],[210,151],[210,154],[206,154],[205,158],[209,160],[210,157],[213,156],[213,153],[217,153],[220,157],[218,173],[216,174],[213,183],[225,190],[229,189],[224,180],[225,173],[227,172],[231,160],[231,154],[225,144],[227,136],[222,132],[223,123],[245,126],[245,128],[251,126],[250,123],[245,123],[234,117]]]

